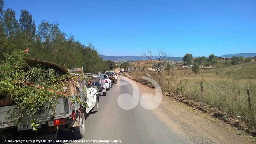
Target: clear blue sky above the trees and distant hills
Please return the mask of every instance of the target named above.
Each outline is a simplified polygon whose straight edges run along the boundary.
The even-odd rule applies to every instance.
[[[59,22],[99,54],[142,55],[152,46],[178,57],[256,52],[256,0],[4,0],[36,26]]]

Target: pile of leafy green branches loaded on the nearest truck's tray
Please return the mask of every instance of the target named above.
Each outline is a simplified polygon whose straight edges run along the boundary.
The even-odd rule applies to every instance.
[[[5,60],[0,62],[0,99],[13,102],[14,105],[7,114],[17,124],[21,123],[22,117],[30,117],[30,122],[35,123],[34,115],[44,109],[46,103],[54,110],[57,99],[65,97],[55,91],[64,93],[64,80],[77,79],[47,66],[27,64],[22,59],[26,56],[25,52],[4,56]]]

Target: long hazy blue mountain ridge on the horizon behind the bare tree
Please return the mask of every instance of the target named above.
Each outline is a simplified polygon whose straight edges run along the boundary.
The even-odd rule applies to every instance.
[[[144,56],[105,56],[99,54],[103,60],[112,60],[112,61],[138,61],[138,60],[148,60]],[[155,56],[157,57],[157,56]],[[182,57],[169,57],[170,60],[182,61]]]

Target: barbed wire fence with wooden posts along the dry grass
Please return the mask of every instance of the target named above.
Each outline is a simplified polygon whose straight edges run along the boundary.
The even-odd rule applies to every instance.
[[[178,90],[189,99],[206,103],[210,107],[219,108],[232,115],[244,116],[256,113],[255,90],[223,87],[205,82],[188,82],[188,80],[170,79],[169,77],[158,78],[158,82],[164,89]]]

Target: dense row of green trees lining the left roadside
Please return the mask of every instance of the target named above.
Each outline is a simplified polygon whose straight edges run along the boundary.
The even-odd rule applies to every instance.
[[[0,60],[4,53],[11,54],[27,50],[29,58],[65,65],[67,68],[83,67],[84,72],[108,71],[113,65],[98,56],[97,50],[89,43],[87,46],[67,36],[59,28],[59,23],[42,20],[36,27],[32,14],[21,10],[19,19],[11,8],[4,10],[0,1]]]

